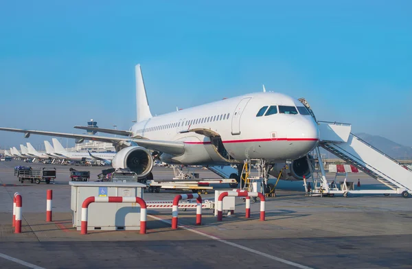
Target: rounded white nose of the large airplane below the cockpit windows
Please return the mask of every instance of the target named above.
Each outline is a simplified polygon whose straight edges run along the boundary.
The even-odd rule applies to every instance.
[[[302,117],[288,126],[291,150],[300,158],[311,152],[319,142],[319,128],[312,117]]]

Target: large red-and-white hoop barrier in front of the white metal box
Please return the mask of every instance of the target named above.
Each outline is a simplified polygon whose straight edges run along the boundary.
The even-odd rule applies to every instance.
[[[81,234],[87,234],[87,211],[89,210],[89,204],[92,202],[137,202],[140,205],[140,233],[146,233],[146,219],[147,219],[147,208],[146,202],[139,197],[122,197],[122,196],[90,196],[86,198],[82,204],[82,227]]]

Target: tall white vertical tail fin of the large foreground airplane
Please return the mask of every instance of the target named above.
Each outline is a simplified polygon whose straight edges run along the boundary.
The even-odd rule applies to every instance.
[[[143,75],[141,73],[140,65],[135,67],[136,75],[136,110],[137,110],[137,122],[145,119],[150,119],[152,113],[150,113],[148,96],[146,95],[146,88],[144,86]]]

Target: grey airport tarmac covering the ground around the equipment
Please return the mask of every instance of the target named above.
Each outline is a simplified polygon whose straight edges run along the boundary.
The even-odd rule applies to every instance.
[[[19,183],[14,166],[56,167],[55,184]],[[276,197],[260,203],[236,200],[234,215],[217,222],[213,211],[179,211],[179,229],[170,228],[171,210],[148,210],[148,231],[89,231],[72,226],[68,165],[0,163],[0,268],[412,268],[412,199],[400,196],[307,197],[302,182],[280,181]],[[102,167],[91,171],[98,180]],[[198,168],[202,178],[216,178]],[[155,179],[170,179],[172,169],[154,167]],[[333,174],[328,178],[333,179]],[[348,180],[361,188],[385,186],[366,174]],[[218,186],[219,187],[219,186]],[[221,186],[220,186],[221,187]],[[229,188],[229,186],[225,186]],[[53,189],[53,222],[45,222],[46,190]],[[12,229],[12,196],[23,197],[21,234]],[[181,191],[145,192],[145,200],[172,200]],[[214,198],[213,191],[202,195]]]

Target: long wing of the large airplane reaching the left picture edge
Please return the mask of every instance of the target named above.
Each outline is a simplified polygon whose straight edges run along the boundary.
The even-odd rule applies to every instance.
[[[25,129],[14,129],[14,128],[3,128],[0,130],[8,132],[23,132],[25,138],[30,137],[30,134],[41,134],[50,137],[67,137],[71,139],[87,139],[92,141],[102,141],[108,143],[115,143],[119,145],[139,145],[141,147],[147,148],[148,150],[156,150],[159,152],[164,152],[171,155],[181,155],[185,153],[185,144],[181,141],[162,141],[162,140],[149,140],[137,138],[120,138],[120,137],[100,137],[91,134],[67,134],[65,132],[47,132],[38,130],[25,130]],[[133,142],[133,143],[130,143]]]

